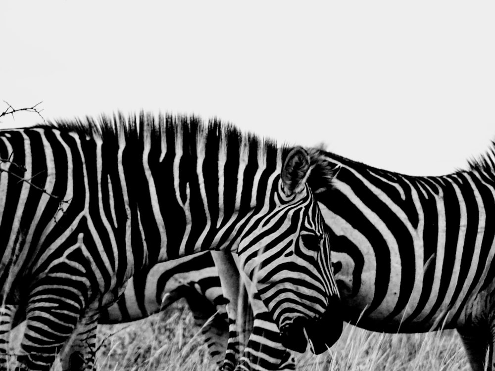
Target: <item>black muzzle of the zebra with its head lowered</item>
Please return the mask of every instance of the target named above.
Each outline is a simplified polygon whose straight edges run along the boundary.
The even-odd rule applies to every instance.
[[[308,342],[313,354],[326,352],[339,340],[343,320],[340,300],[329,306],[317,320],[296,317],[293,322],[280,327],[280,342],[288,349],[299,353],[306,351]]]

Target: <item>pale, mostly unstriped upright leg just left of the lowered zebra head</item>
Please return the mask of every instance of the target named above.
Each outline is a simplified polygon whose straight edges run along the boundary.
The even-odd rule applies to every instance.
[[[220,368],[222,371],[231,371],[237,365],[239,354],[245,348],[244,336],[241,331],[241,321],[246,319],[245,295],[239,295],[240,280],[239,271],[232,258],[232,254],[224,251],[212,251],[211,256],[218,270],[218,276],[226,299],[227,315],[229,317],[229,340],[225,352],[225,360]],[[244,287],[241,291],[245,293]],[[241,312],[241,313],[238,313]],[[241,336],[240,336],[241,335]]]

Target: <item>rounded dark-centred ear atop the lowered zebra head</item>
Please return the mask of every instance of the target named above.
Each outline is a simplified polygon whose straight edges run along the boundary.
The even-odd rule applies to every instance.
[[[298,193],[306,184],[310,173],[309,156],[302,147],[293,148],[284,161],[280,179],[287,196]]]

